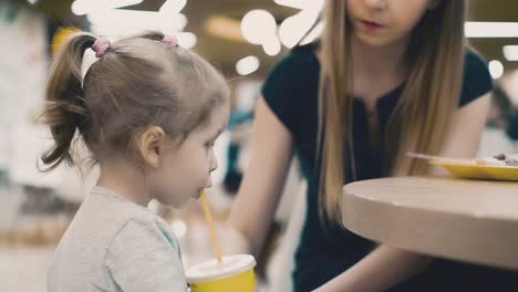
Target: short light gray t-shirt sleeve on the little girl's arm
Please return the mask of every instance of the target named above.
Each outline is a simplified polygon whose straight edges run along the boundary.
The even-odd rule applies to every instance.
[[[110,244],[105,265],[122,291],[187,291],[176,239],[154,221],[130,220]]]

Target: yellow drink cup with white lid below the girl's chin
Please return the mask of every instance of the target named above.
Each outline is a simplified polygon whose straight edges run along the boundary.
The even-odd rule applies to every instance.
[[[250,254],[222,257],[196,264],[187,270],[191,292],[252,292],[256,291],[253,273],[256,260]]]

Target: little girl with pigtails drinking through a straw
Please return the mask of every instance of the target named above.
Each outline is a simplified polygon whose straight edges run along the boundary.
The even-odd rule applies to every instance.
[[[87,49],[99,60],[81,79]],[[177,240],[146,206],[178,208],[211,186],[228,96],[224,77],[172,36],[70,36],[51,66],[43,118],[55,145],[42,161],[74,165],[81,138],[101,176],[55,250],[49,291],[187,290]]]

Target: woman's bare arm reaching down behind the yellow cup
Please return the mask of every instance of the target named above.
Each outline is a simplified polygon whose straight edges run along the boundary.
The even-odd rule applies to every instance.
[[[252,155],[234,202],[224,240],[226,252],[259,254],[293,155],[291,133],[259,98]]]

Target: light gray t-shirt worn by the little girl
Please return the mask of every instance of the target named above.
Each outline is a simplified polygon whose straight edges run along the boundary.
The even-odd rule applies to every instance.
[[[182,254],[158,216],[94,187],[58,246],[48,291],[187,291]]]

